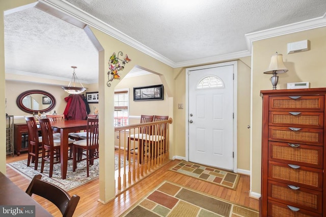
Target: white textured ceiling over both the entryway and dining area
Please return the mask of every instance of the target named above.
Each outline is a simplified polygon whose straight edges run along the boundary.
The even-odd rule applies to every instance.
[[[325,16],[325,0],[42,0],[65,3],[101,21],[171,66],[247,52],[246,34]],[[60,2],[60,3],[59,3]],[[84,30],[37,8],[5,15],[6,72],[28,72],[91,83],[97,51]],[[132,59],[132,56],[130,57]],[[97,77],[97,76],[96,76]],[[96,78],[95,78],[96,80]]]

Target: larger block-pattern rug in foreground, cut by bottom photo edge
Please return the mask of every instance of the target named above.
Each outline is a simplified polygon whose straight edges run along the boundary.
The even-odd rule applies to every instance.
[[[251,208],[164,181],[120,216],[258,217],[259,213]]]

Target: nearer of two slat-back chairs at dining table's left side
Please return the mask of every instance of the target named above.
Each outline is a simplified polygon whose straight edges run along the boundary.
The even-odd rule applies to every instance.
[[[41,173],[44,170],[45,161],[49,162],[49,177],[52,177],[53,165],[60,163],[61,139],[53,139],[53,130],[49,118],[39,119],[42,133],[42,164]],[[68,144],[75,140],[68,139]],[[56,161],[55,161],[56,160]]]

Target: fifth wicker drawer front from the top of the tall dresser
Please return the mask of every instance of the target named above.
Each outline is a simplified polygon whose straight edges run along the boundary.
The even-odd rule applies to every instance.
[[[300,166],[298,169],[293,169],[298,165],[288,165],[278,162],[268,163],[268,178],[283,181],[291,184],[306,185],[307,188],[315,188],[322,190],[322,169]]]

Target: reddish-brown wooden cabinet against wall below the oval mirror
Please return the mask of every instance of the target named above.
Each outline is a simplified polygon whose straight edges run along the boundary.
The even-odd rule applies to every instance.
[[[15,123],[14,124],[15,134],[15,152],[17,156],[22,151],[28,151],[29,145],[29,130],[26,123]]]

